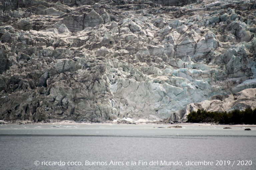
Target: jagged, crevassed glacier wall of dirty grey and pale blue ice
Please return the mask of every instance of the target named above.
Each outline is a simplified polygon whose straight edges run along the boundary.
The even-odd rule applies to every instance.
[[[0,25],[1,120],[256,107],[255,0],[0,0]]]

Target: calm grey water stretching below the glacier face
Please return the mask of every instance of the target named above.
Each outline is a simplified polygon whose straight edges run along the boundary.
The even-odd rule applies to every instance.
[[[112,124],[51,126],[55,125],[1,125],[0,169],[256,169],[255,127],[245,131],[245,127],[223,129],[214,125],[182,125],[183,128]],[[35,165],[35,161],[39,161],[39,165]],[[62,161],[65,165],[45,165],[53,161]],[[81,165],[67,165],[72,161]],[[86,165],[93,161],[103,165]],[[121,165],[109,165],[111,161],[120,161]],[[150,165],[151,161],[158,161],[158,164]],[[163,165],[161,161],[178,161],[182,165]],[[188,161],[212,161],[213,165],[186,165]],[[216,165],[217,161],[222,165]],[[239,161],[244,165],[237,165]]]

